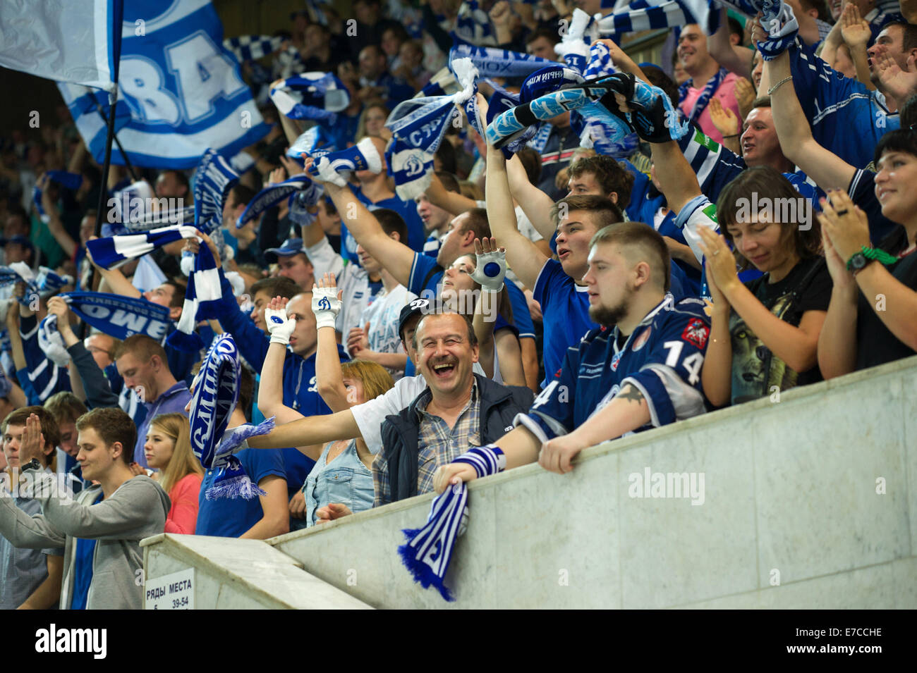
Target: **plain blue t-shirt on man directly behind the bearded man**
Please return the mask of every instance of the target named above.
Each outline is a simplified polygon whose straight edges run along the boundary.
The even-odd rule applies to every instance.
[[[599,326],[589,317],[589,292],[586,286],[578,286],[573,282],[573,278],[564,273],[557,260],[549,259],[541,267],[532,295],[541,304],[541,312],[545,317],[545,380],[541,382],[544,387],[560,369],[567,349],[579,343],[587,331],[598,329]]]

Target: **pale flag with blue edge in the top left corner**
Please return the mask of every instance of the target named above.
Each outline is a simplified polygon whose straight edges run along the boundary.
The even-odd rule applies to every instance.
[[[114,91],[123,0],[0,3],[0,65]]]

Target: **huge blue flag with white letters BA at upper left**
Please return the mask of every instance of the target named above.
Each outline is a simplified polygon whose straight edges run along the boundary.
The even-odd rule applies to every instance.
[[[207,147],[233,157],[268,133],[209,0],[131,3],[121,27],[115,131],[134,166],[193,168]],[[110,114],[107,96],[59,87],[102,163],[107,129],[95,103]],[[117,147],[112,162],[125,163]]]

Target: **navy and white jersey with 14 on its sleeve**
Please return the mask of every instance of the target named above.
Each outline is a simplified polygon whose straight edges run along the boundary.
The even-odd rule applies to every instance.
[[[702,300],[670,296],[623,345],[617,327],[592,330],[567,349],[558,374],[515,424],[545,442],[579,428],[626,384],[634,385],[649,406],[649,424],[635,431],[702,414],[701,369],[709,336]]]

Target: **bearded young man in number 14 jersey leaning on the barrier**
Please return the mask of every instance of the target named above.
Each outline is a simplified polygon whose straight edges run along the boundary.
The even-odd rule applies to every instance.
[[[590,317],[602,325],[564,364],[515,429],[492,444],[506,468],[572,469],[580,450],[704,411],[701,369],[710,322],[700,299],[667,296],[668,249],[643,223],[605,227],[591,242]],[[467,463],[438,469],[435,490],[476,478]]]

